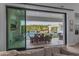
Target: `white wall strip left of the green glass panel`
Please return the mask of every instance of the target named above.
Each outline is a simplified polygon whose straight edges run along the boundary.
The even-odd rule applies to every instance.
[[[6,9],[0,4],[0,50],[6,50]]]

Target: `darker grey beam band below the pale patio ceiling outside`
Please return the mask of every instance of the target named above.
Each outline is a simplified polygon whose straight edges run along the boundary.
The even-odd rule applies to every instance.
[[[42,21],[42,22],[63,22],[64,21],[64,19],[35,17],[35,16],[27,16],[26,20],[27,21]]]

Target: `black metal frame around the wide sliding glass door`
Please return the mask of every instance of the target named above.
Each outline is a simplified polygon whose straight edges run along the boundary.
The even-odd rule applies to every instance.
[[[30,8],[22,8],[22,7],[15,7],[15,6],[6,6],[6,50],[9,50],[8,49],[8,8],[12,8],[12,9],[22,9],[22,10],[25,10],[25,21],[26,21],[26,11],[27,10],[31,10],[31,11],[39,11],[39,12],[48,12],[48,13],[58,13],[58,14],[64,14],[64,23],[65,23],[65,32],[64,32],[64,43],[65,45],[67,45],[67,13],[66,12],[56,12],[56,11],[47,11],[47,10],[38,10],[38,9],[30,9]],[[25,22],[26,24],[26,22]],[[25,32],[26,32],[26,28],[25,28]],[[26,35],[26,34],[25,34]],[[26,39],[26,37],[25,37]],[[25,41],[26,43],[26,41]],[[25,44],[26,46],[26,44]],[[12,48],[11,50],[13,49],[17,49],[17,48]],[[25,48],[18,48],[17,50],[23,50],[23,49],[26,49]]]

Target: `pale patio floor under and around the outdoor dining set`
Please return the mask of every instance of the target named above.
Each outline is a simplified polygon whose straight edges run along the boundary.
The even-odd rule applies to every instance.
[[[26,47],[28,48],[37,48],[37,47],[44,47],[44,46],[62,46],[64,45],[64,41],[63,40],[59,40],[58,38],[53,38],[50,43],[43,43],[43,44],[38,44],[38,45],[34,45],[32,43],[30,43],[30,40],[26,40]]]

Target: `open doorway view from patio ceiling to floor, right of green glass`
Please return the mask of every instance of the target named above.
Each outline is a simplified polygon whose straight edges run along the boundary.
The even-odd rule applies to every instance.
[[[26,10],[26,47],[64,44],[64,14]]]

